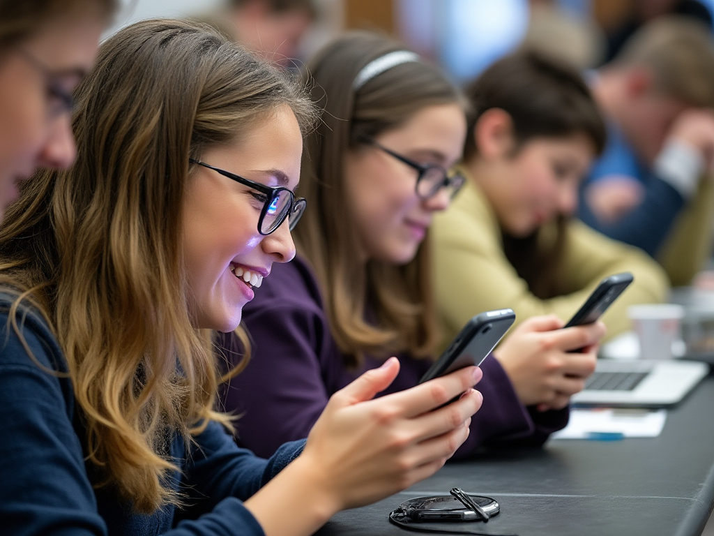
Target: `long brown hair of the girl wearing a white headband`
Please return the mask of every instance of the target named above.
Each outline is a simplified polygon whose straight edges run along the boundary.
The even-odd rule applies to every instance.
[[[293,231],[298,252],[315,269],[325,298],[331,332],[356,367],[365,354],[388,357],[409,352],[433,354],[438,336],[431,294],[428,239],[403,266],[358,257],[344,184],[349,151],[398,128],[417,111],[438,104],[460,104],[461,91],[426,61],[401,61],[377,69],[354,89],[363,68],[403,45],[368,32],[349,32],[328,44],[308,64],[306,81],[321,106],[321,122],[308,136],[300,191],[310,209]],[[415,177],[416,179],[416,177]]]

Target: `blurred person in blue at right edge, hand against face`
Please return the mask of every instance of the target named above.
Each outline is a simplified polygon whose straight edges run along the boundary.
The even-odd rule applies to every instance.
[[[660,17],[590,79],[608,144],[581,188],[580,218],[640,247],[670,282],[710,257],[714,218],[714,40],[699,21]]]

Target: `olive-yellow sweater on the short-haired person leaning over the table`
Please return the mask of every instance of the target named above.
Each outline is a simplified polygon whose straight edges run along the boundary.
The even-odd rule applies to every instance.
[[[573,220],[568,223],[563,254],[568,279],[563,288],[569,292],[552,299],[535,297],[508,262],[496,214],[473,178],[451,207],[434,218],[431,234],[444,346],[474,314],[490,309],[511,307],[516,324],[550,313],[565,322],[600,279],[618,272],[632,272],[635,280],[603,315],[607,338],[630,329],[628,306],[662,302],[668,295],[668,278],[651,257]],[[547,239],[548,229],[541,234]]]

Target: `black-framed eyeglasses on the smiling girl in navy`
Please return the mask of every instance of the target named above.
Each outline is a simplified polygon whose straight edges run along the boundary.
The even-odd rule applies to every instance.
[[[236,175],[231,172],[226,172],[223,169],[213,167],[206,162],[199,162],[196,159],[189,158],[188,162],[192,164],[197,164],[198,166],[207,167],[208,169],[213,169],[214,172],[220,173],[223,177],[228,177],[228,179],[233,179],[236,182],[245,184],[247,187],[251,187],[262,195],[256,194],[256,199],[263,202],[263,209],[261,209],[261,216],[258,219],[258,232],[260,234],[271,234],[280,227],[280,225],[288,218],[288,225],[292,231],[295,226],[300,221],[300,218],[305,212],[305,207],[307,201],[304,197],[298,197],[296,199],[295,194],[291,190],[283,187],[269,187],[265,184],[259,182],[253,182],[248,179],[244,179],[240,175]]]

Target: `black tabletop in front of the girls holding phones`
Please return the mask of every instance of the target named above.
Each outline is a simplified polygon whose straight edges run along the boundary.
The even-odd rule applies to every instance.
[[[486,534],[699,535],[714,504],[714,376],[668,410],[659,437],[550,440],[542,449],[449,462],[404,492],[339,513],[318,535],[404,536],[409,532],[391,525],[388,513],[452,487],[500,503],[488,523],[460,524]]]

